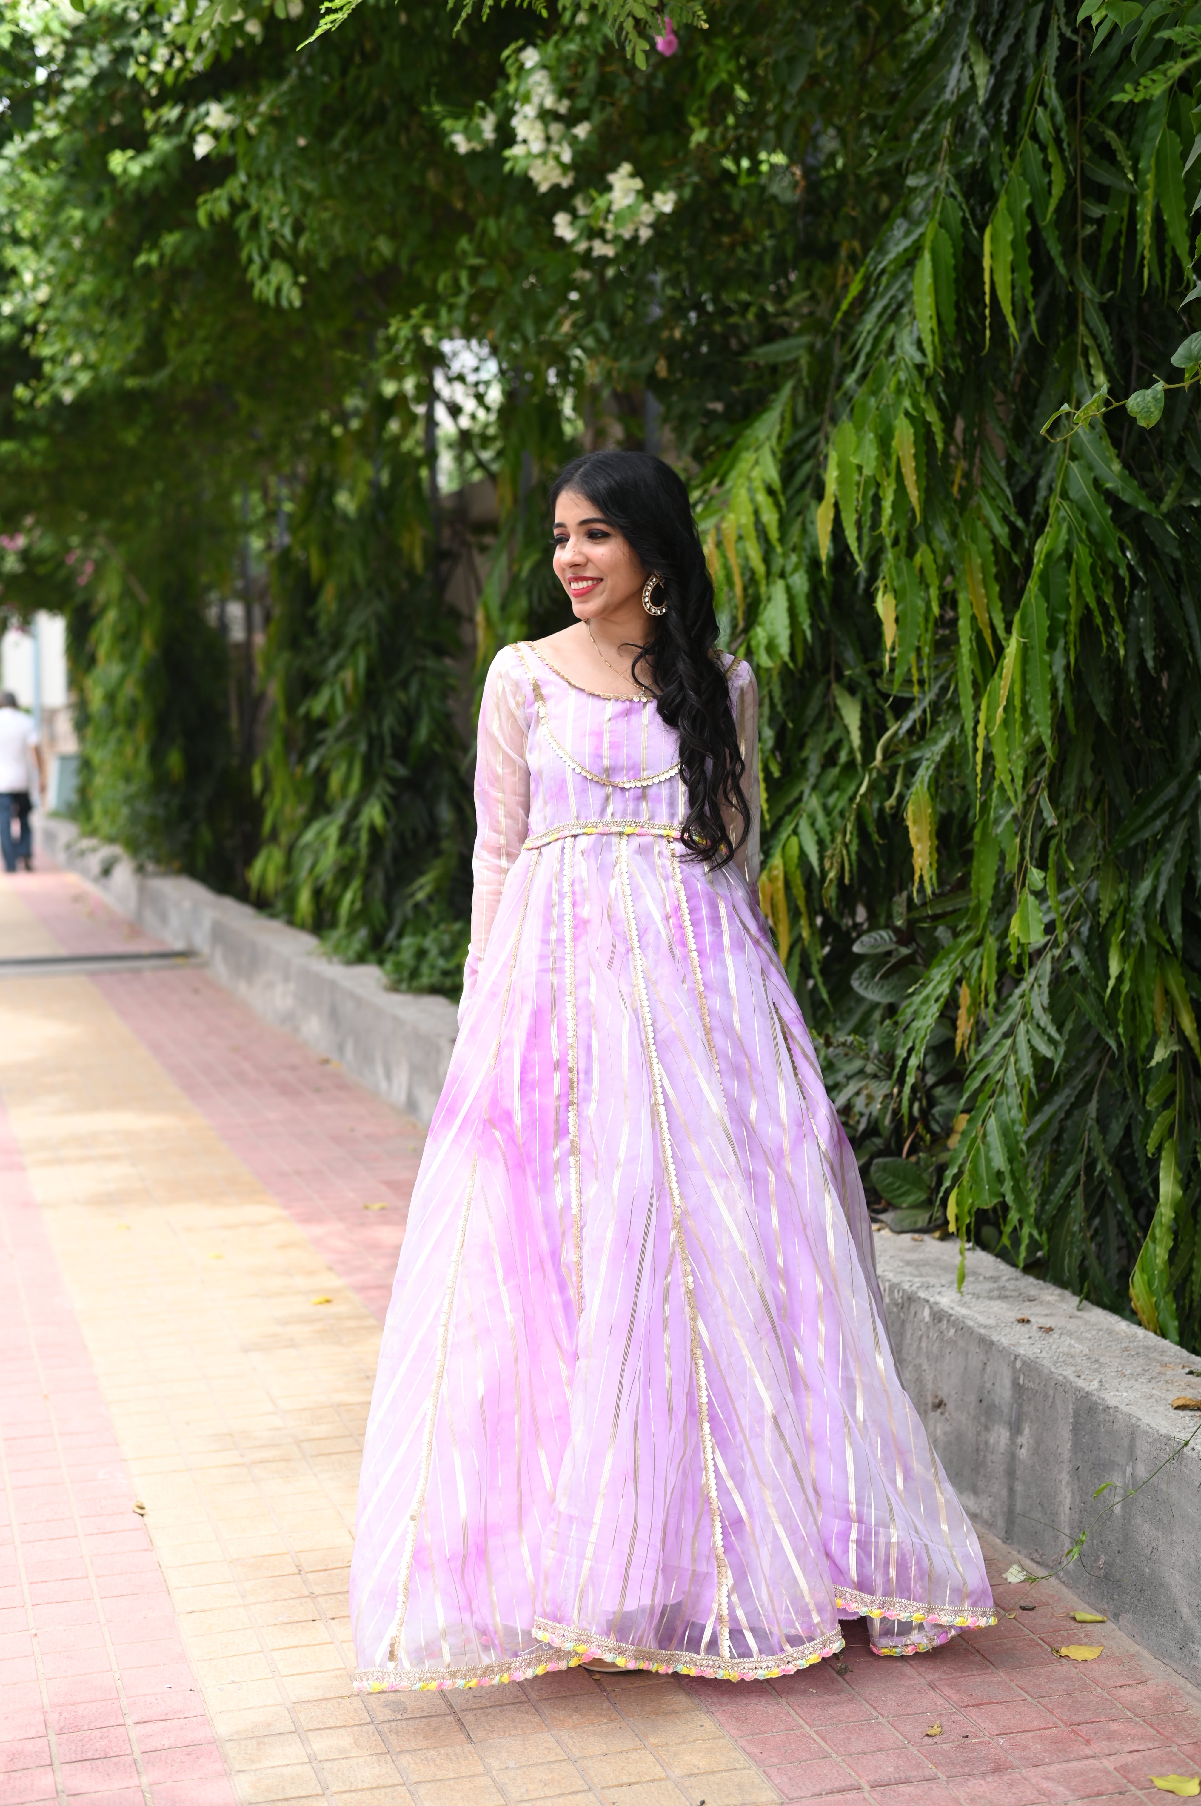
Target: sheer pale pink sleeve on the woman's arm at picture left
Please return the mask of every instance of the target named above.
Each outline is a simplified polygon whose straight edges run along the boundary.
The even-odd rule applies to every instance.
[[[459,1026],[466,1019],[500,894],[529,827],[526,688],[506,650],[491,661],[480,701],[475,757],[475,852],[471,854],[471,945],[462,970]]]

